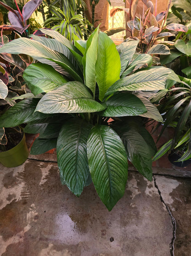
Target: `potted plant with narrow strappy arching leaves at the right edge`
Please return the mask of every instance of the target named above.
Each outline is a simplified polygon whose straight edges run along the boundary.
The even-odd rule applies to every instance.
[[[182,77],[183,82],[169,89],[159,105],[163,114],[163,131],[174,127],[174,137],[165,143],[154,156],[153,161],[168,153],[169,161],[179,167],[191,163],[191,79]]]

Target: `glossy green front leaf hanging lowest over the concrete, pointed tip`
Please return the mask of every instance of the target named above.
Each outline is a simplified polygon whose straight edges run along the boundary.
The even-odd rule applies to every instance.
[[[98,125],[90,131],[87,150],[91,178],[110,211],[125,191],[128,162],[124,145],[112,128]]]

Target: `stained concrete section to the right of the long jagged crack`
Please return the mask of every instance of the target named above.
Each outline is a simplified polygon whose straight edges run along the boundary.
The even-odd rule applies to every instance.
[[[191,178],[157,176],[161,196],[176,220],[174,255],[191,255]]]

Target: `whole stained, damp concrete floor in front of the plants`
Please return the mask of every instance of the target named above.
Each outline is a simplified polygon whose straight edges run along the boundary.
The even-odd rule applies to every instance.
[[[92,184],[79,198],[62,186],[54,161],[0,165],[0,255],[190,256],[191,172],[153,172],[129,171],[108,212]]]

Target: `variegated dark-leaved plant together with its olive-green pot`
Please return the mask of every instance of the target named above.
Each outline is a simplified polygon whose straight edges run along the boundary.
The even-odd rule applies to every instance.
[[[7,42],[7,36],[0,37],[0,47]],[[0,54],[0,116],[16,104],[16,100],[22,97],[19,95],[28,92],[22,72],[30,62],[31,58],[25,55]],[[28,154],[22,127],[0,128],[0,162],[4,166],[21,165],[28,158]]]

